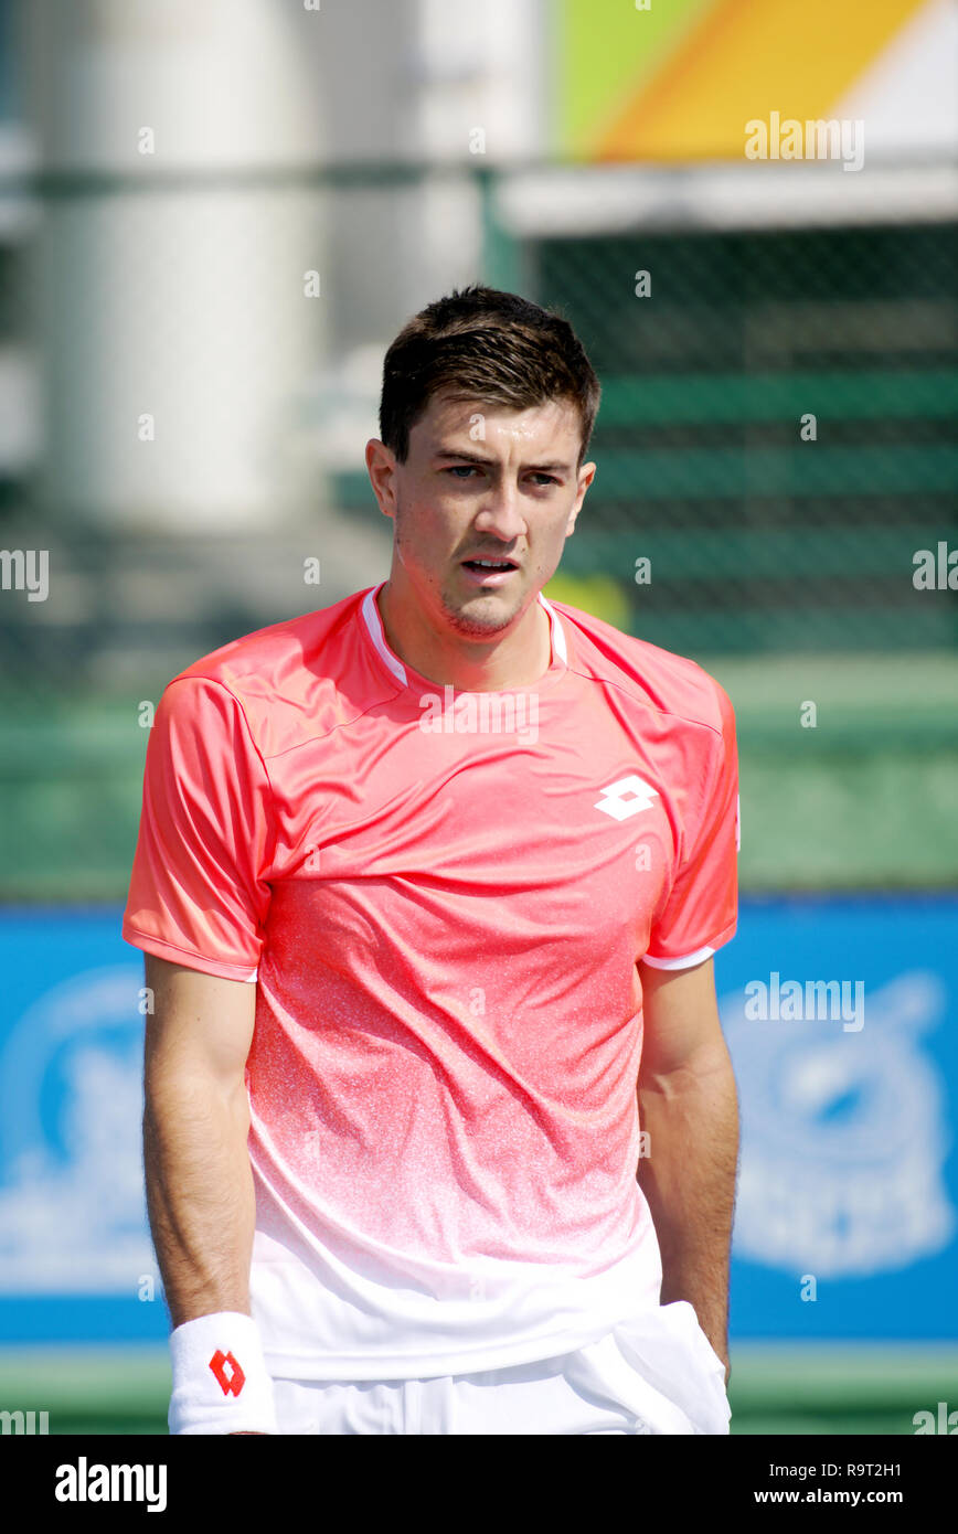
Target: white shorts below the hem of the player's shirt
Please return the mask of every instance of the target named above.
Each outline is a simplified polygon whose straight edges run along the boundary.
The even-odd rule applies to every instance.
[[[536,1364],[433,1379],[275,1379],[279,1431],[551,1434],[729,1431],[725,1367],[686,1301]]]

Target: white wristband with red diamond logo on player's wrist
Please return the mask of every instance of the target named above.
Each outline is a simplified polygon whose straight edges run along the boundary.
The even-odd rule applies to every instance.
[[[170,1433],[278,1433],[273,1382],[252,1316],[220,1310],[170,1333]]]

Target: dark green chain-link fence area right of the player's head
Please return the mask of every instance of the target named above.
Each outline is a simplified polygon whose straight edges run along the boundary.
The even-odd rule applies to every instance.
[[[565,565],[619,581],[633,632],[955,649],[958,600],[912,578],[958,545],[955,225],[553,239],[533,270],[603,380]]]

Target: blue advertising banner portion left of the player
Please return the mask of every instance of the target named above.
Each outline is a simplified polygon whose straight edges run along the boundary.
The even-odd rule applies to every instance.
[[[163,1339],[143,957],[120,910],[3,911],[0,963],[0,1342]]]

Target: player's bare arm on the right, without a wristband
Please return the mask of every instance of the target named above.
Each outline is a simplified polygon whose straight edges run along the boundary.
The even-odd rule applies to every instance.
[[[688,1299],[728,1365],[728,1285],[738,1101],[722,1035],[712,960],[640,968],[645,1012],[639,1163],[662,1252],[662,1304]]]

